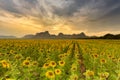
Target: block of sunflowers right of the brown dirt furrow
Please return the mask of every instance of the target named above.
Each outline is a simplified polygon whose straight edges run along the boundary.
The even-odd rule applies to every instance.
[[[117,40],[81,41],[86,71],[86,80],[119,80],[120,79],[120,45]],[[97,44],[96,44],[97,43]]]

